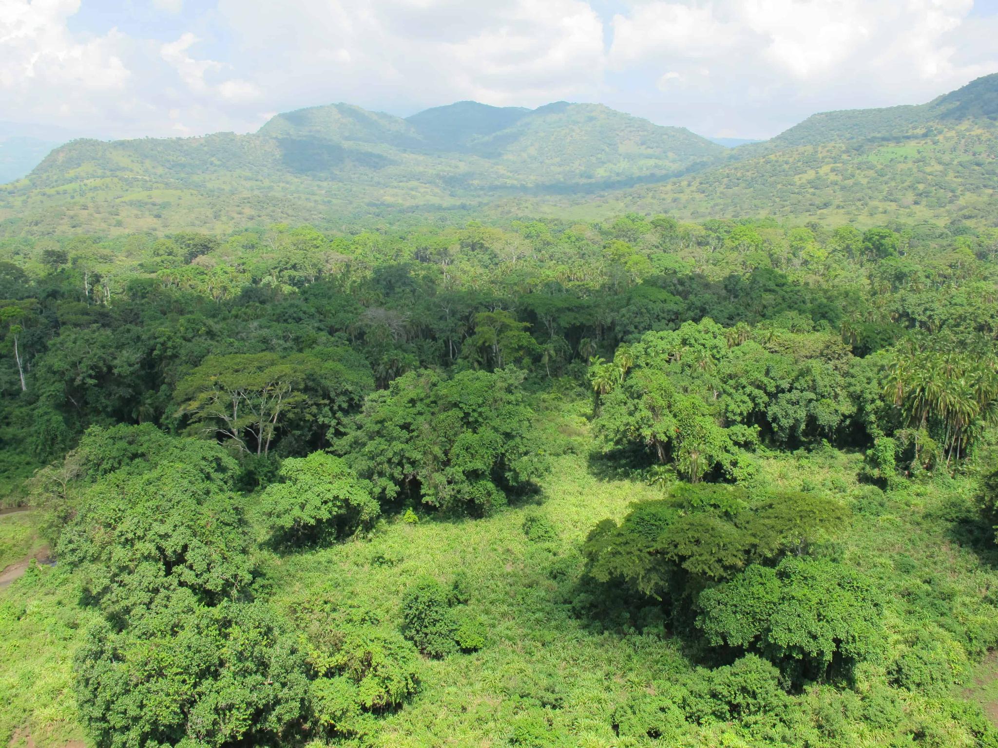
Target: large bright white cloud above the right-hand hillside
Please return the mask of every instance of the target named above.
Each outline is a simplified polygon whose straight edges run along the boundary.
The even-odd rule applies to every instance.
[[[738,113],[747,136],[769,136],[816,111],[919,104],[998,72],[993,41],[974,33],[987,21],[968,18],[972,7],[973,0],[638,0],[614,17],[608,59],[618,79],[646,71],[669,93],[668,101],[643,103],[653,120],[710,134],[731,129]],[[697,76],[705,67],[709,80]]]

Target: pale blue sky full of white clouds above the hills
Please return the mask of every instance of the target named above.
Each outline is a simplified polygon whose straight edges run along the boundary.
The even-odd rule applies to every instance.
[[[347,102],[598,102],[713,137],[998,72],[998,0],[0,0],[0,120],[137,138]]]

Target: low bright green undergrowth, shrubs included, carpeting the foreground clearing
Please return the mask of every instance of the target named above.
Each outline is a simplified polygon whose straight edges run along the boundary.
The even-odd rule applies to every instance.
[[[589,612],[580,549],[593,519],[621,520],[633,502],[663,490],[638,475],[594,476],[581,415],[548,417],[557,456],[532,499],[477,520],[396,514],[365,539],[264,552],[259,589],[300,630],[350,617],[398,630],[405,591],[426,575],[445,585],[460,577],[463,604],[482,623],[478,651],[413,659],[414,693],[359,719],[344,744],[638,746],[657,744],[657,731],[667,744],[702,746],[993,740],[981,707],[961,699],[998,635],[998,554],[970,502],[971,480],[881,492],[858,481],[855,453],[823,448],[761,461],[760,484],[843,498],[848,528],[815,553],[869,574],[885,598],[883,651],[854,683],[810,683],[786,695],[758,663],[746,683],[726,670],[738,665],[718,669],[702,644],[664,625],[655,604]],[[0,592],[8,653],[0,684],[11,699],[0,737],[24,724],[37,745],[79,734],[70,660],[95,614],[78,594],[59,566],[33,569]]]

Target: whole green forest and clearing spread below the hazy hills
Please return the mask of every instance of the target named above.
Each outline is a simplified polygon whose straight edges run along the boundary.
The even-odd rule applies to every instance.
[[[995,745],[995,241],[7,242],[0,740]]]

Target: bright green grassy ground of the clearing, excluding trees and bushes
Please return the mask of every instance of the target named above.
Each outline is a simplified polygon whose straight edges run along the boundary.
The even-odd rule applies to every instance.
[[[538,426],[556,456],[538,495],[484,519],[440,519],[419,512],[419,522],[409,524],[397,514],[367,539],[288,555],[259,552],[258,594],[302,628],[346,611],[397,626],[401,597],[415,579],[429,574],[449,583],[458,572],[467,575],[468,609],[485,624],[486,645],[442,660],[420,659],[418,693],[374,720],[370,734],[343,744],[656,745],[651,739],[619,738],[613,714],[629,695],[652,688],[654,681],[687,678],[694,670],[688,642],[659,625],[604,630],[575,610],[572,600],[583,569],[579,547],[593,525],[623,518],[632,502],[658,498],[663,489],[636,477],[601,477],[606,465],[592,459],[583,418],[588,402],[539,405],[545,417]],[[896,724],[874,729],[862,712],[871,694],[889,692],[902,709],[905,734],[918,734],[929,724],[926,729],[943,741],[939,745],[976,745],[951,717],[952,704],[960,701],[886,686],[898,652],[915,632],[929,631],[949,642],[954,653],[952,697],[995,714],[998,661],[987,649],[998,637],[993,623],[998,610],[989,592],[998,588],[998,550],[990,537],[974,535],[971,481],[903,482],[884,494],[859,481],[859,453],[763,449],[756,458],[756,488],[827,492],[852,509],[850,526],[824,541],[820,551],[869,573],[888,600],[883,657],[863,666],[855,692],[823,685],[795,696],[799,725],[793,729],[826,735],[808,743],[814,746],[897,744],[891,743],[897,739]],[[555,528],[554,540],[526,537],[524,520],[534,514]],[[22,551],[30,545],[24,539],[32,515],[24,517],[17,532],[8,532],[21,539]],[[30,734],[40,748],[81,737],[73,721],[71,661],[78,632],[96,615],[78,606],[78,595],[72,576],[58,566],[32,568],[0,590],[0,703],[8,705],[0,710],[0,745],[15,734],[12,745],[23,745]],[[830,731],[833,714],[845,715],[844,732]],[[760,743],[738,725],[718,723],[691,726],[679,745]]]

